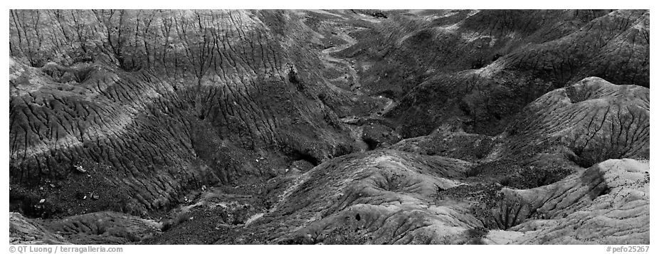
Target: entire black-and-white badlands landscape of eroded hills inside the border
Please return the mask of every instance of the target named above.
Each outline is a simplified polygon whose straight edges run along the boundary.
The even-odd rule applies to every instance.
[[[649,244],[646,10],[11,10],[14,244]]]

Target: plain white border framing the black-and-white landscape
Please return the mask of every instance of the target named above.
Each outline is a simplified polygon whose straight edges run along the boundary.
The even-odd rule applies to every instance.
[[[11,0],[10,0],[11,1]],[[113,1],[11,1],[9,6],[2,12],[5,21],[9,20],[9,9],[650,9],[653,13],[655,4],[650,4],[650,1],[569,1],[569,0],[552,0],[552,1],[354,1],[354,0],[330,0],[325,2],[320,1],[127,1],[127,0],[113,0]],[[650,27],[655,26],[657,23],[653,18],[650,18]],[[9,35],[9,23],[2,26],[4,35]],[[655,32],[656,33],[656,32]],[[659,39],[654,36],[655,33],[650,33],[650,48],[656,44]],[[6,61],[9,59],[9,36],[2,36],[1,40],[4,42],[6,52]],[[657,55],[656,50],[650,50],[650,83],[652,77],[655,76],[656,63],[652,59]],[[9,63],[7,62],[9,65]],[[9,73],[2,74],[4,80],[9,80]],[[8,86],[8,83],[6,83]],[[656,84],[653,84],[656,85]],[[659,89],[659,88],[655,88]],[[1,119],[4,122],[2,125],[2,146],[0,153],[2,160],[2,168],[4,174],[1,175],[2,182],[9,186],[9,89],[5,87],[1,90],[1,97],[4,104],[4,109],[1,111]],[[656,92],[654,92],[656,94]],[[653,105],[659,100],[658,96],[653,96],[650,92],[650,107],[655,108]],[[656,115],[654,111],[650,112],[650,122]],[[650,150],[658,151],[659,140],[655,139],[652,133],[655,132],[656,125],[650,126]],[[656,135],[655,135],[656,136]],[[656,154],[656,152],[655,152]],[[650,170],[655,168],[656,156],[650,155]],[[659,169],[658,169],[659,170]],[[653,172],[650,172],[653,174]],[[652,179],[655,179],[654,177]],[[650,180],[650,186],[652,182]],[[650,195],[656,196],[658,188],[650,187]],[[1,201],[4,211],[9,211],[9,188],[3,196]],[[658,211],[656,203],[650,202],[650,211]],[[1,221],[0,232],[4,236],[5,243],[9,244],[9,214],[5,213],[5,219]],[[656,243],[659,239],[658,234],[653,233],[653,228],[657,228],[657,220],[650,213],[650,243]],[[4,228],[4,229],[2,229]],[[107,246],[107,245],[104,245]],[[184,252],[216,252],[216,253],[250,253],[252,251],[260,253],[364,253],[372,250],[384,253],[607,253],[607,245],[424,245],[424,246],[371,246],[371,245],[326,245],[326,246],[264,246],[264,245],[123,245],[124,253],[184,253]],[[8,247],[6,246],[5,250]],[[0,250],[2,251],[2,250]],[[654,250],[657,251],[657,250]],[[653,251],[653,252],[654,252]],[[4,251],[2,251],[4,252]]]

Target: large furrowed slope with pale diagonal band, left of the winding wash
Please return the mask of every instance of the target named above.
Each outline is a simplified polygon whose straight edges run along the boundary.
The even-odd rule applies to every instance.
[[[21,23],[28,15],[41,16],[34,25],[43,33]],[[9,174],[23,212],[146,213],[204,184],[271,177],[295,160],[318,164],[352,150],[317,97],[328,88],[310,65],[315,54],[291,44],[305,33],[288,33],[299,21],[286,11],[12,16]],[[58,41],[75,33],[94,40]],[[42,43],[38,59],[56,62],[40,65],[29,41]],[[116,191],[95,204],[75,198],[98,186]]]

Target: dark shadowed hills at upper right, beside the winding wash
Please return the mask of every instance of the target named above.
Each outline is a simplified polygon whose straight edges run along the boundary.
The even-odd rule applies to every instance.
[[[648,11],[390,16],[339,54],[364,66],[364,90],[399,101],[385,117],[404,137],[447,121],[499,134],[528,102],[590,76],[649,87]]]

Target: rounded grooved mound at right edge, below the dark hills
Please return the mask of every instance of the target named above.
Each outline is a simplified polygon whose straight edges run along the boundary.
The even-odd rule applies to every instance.
[[[606,159],[650,157],[650,90],[585,78],[539,97],[506,128],[511,153],[563,145],[588,167]]]

